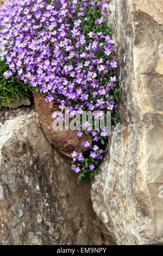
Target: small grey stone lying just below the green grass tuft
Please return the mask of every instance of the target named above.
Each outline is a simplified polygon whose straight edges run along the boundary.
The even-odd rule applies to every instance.
[[[23,99],[18,100],[17,97],[14,97],[14,99],[10,100],[11,108],[18,108],[20,106],[30,106],[30,99],[27,96],[24,96]],[[7,102],[5,100],[0,102],[1,107],[6,107]]]

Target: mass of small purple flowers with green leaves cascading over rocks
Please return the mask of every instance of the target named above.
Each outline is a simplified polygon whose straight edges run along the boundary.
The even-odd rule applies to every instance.
[[[115,41],[104,15],[108,3],[87,0],[14,0],[0,8],[1,57],[9,78],[16,73],[40,90],[46,102],[57,100],[62,117],[83,111],[111,111],[117,100]],[[53,117],[57,115],[54,113]],[[116,116],[112,115],[116,123]],[[86,121],[86,153],[73,151],[71,169],[83,176],[97,173],[103,159],[106,130],[92,131]],[[82,129],[82,127],[81,127]]]

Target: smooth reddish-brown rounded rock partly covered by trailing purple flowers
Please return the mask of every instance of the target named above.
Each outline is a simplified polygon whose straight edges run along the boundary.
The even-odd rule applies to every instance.
[[[82,142],[86,141],[86,137],[79,138],[77,136],[77,131],[53,130],[54,119],[52,113],[54,111],[59,111],[59,103],[46,103],[41,94],[34,91],[33,95],[38,117],[49,143],[57,148],[62,154],[69,157],[71,157],[73,151],[77,151],[78,153],[86,151],[87,148],[82,147]]]

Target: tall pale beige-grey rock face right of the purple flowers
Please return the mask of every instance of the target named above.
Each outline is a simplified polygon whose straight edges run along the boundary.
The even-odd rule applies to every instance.
[[[163,1],[111,0],[109,9],[121,125],[93,181],[93,209],[119,245],[162,244]]]

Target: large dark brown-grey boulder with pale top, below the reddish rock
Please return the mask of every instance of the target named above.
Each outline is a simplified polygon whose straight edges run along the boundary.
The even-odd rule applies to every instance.
[[[0,245],[101,245],[90,184],[45,138],[36,113],[0,129]]]

